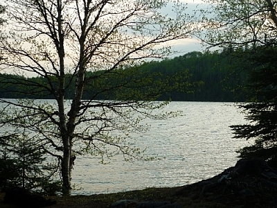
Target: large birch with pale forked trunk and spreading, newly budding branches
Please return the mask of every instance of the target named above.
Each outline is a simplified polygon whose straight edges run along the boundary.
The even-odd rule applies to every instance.
[[[80,155],[102,158],[121,153],[125,159],[145,158],[142,150],[131,145],[129,131],[147,129],[139,125],[145,117],[166,117],[152,115],[166,105],[153,102],[153,95],[159,96],[170,86],[157,85],[148,92],[152,78],[139,77],[136,83],[123,69],[163,58],[170,54],[170,41],[188,37],[194,23],[184,13],[186,5],[166,0],[11,0],[6,6],[8,27],[0,41],[1,69],[15,72],[10,82],[17,85],[14,92],[49,96],[55,103],[2,99],[8,107],[0,116],[1,126],[24,128],[45,143],[44,151],[60,164],[65,195],[70,194],[71,171]],[[161,13],[170,6],[174,17]],[[124,83],[106,82],[111,74]],[[129,93],[125,89],[131,86],[128,80],[136,84],[130,91],[135,95],[132,100],[125,98]],[[86,99],[85,89],[91,92]],[[73,95],[71,100],[66,100],[67,93]],[[118,99],[96,100],[100,94],[113,93]]]

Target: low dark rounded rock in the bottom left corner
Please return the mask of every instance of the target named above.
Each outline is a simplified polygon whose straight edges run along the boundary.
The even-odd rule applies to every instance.
[[[14,188],[6,191],[4,202],[24,208],[39,208],[56,204],[55,201],[46,200],[46,198],[42,196],[30,194],[30,192],[21,188]]]

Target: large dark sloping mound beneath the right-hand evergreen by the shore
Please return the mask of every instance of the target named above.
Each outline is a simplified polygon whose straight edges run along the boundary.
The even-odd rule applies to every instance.
[[[214,177],[185,185],[175,196],[224,207],[277,208],[277,169],[262,159],[240,159]]]

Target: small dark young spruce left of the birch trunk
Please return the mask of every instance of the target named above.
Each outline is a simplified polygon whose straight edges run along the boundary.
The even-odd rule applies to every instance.
[[[22,187],[44,194],[55,194],[60,188],[51,190],[51,182],[57,167],[47,162],[42,143],[30,135],[14,133],[0,138],[1,189]],[[49,160],[49,159],[48,159]]]

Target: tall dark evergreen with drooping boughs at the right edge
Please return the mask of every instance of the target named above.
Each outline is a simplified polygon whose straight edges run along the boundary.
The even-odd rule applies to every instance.
[[[249,71],[251,102],[240,105],[247,113],[246,125],[232,125],[236,138],[255,139],[239,150],[240,157],[262,157],[277,166],[277,48],[259,47],[251,51],[254,66]]]

